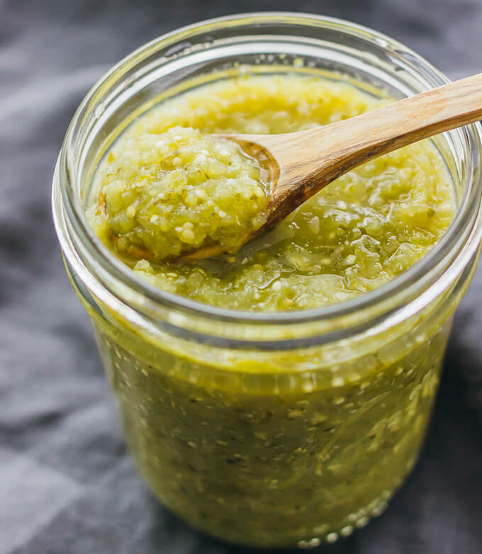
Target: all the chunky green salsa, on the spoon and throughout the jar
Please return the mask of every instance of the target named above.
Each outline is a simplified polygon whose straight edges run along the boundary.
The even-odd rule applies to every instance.
[[[238,250],[262,225],[269,183],[210,133],[303,130],[393,100],[283,71],[196,84],[109,147],[88,215],[138,277],[231,310],[307,310],[383,286],[447,230],[452,183],[425,141],[350,171]],[[212,242],[232,253],[172,259]],[[90,313],[147,484],[201,530],[263,547],[332,543],[381,514],[417,458],[450,328],[448,311],[427,309],[376,334],[269,351],[152,338]]]

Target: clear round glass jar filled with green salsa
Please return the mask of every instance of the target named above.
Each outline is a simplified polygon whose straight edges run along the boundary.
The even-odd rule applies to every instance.
[[[435,138],[456,217],[388,285],[300,312],[203,305],[135,276],[84,208],[125,125],[192,77],[242,64],[318,68],[397,98],[447,82],[403,45],[332,18],[254,13],[189,26],[134,52],[86,96],[55,169],[53,212],[147,485],[219,538],[310,547],[379,515],[413,468],[452,314],[478,259],[481,126]]]

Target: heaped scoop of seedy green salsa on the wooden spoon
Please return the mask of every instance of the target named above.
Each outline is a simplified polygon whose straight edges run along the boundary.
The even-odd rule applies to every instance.
[[[266,222],[267,186],[234,142],[173,127],[125,138],[108,155],[96,229],[117,251],[162,261],[220,245],[237,251]]]

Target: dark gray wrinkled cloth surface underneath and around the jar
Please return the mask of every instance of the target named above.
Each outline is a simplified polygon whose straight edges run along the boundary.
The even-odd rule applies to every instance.
[[[167,30],[253,9],[349,18],[451,77],[482,70],[476,0],[0,0],[0,554],[247,552],[192,531],[136,475],[62,267],[50,186],[69,118],[113,62]],[[322,551],[482,552],[481,293],[479,268],[407,485],[381,518]]]

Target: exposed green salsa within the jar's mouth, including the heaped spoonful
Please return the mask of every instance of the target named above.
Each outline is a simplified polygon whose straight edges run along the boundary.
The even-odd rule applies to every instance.
[[[139,118],[105,157],[89,210],[93,225],[118,254],[134,249],[123,259],[140,277],[210,305],[303,310],[366,293],[419,260],[452,221],[452,184],[430,141],[350,171],[236,255],[195,264],[163,259],[206,245],[206,237],[236,251],[264,222],[259,169],[234,143],[218,145],[206,134],[303,130],[387,101],[299,75],[247,75],[176,96]],[[198,151],[206,152],[204,172],[193,164]]]

